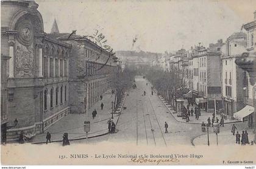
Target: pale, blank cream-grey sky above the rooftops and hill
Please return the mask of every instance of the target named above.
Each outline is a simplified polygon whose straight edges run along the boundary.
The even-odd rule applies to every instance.
[[[55,18],[60,32],[93,35],[99,30],[115,51],[160,53],[190,49],[199,42],[208,47],[218,39],[226,41],[254,20],[256,10],[255,0],[36,2],[46,33]]]

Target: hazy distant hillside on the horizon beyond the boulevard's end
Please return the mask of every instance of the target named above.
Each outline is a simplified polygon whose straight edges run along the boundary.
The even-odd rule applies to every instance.
[[[144,51],[140,51],[140,52],[136,52],[136,51],[132,51],[132,50],[119,50],[116,51],[116,57],[141,57],[141,58],[155,58],[155,57],[160,57],[162,56],[162,53],[152,53],[152,52],[144,52]]]

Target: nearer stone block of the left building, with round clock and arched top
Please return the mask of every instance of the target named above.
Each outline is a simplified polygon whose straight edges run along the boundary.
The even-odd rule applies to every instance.
[[[37,7],[33,1],[1,1],[1,107],[8,140],[21,131],[41,133],[69,113],[71,46],[44,33]]]

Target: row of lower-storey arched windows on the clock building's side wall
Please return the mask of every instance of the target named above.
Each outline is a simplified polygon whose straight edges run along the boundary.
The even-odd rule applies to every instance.
[[[54,88],[50,91],[50,108],[53,108]],[[66,86],[64,87],[64,102],[66,102]],[[63,103],[63,86],[60,87],[60,104]],[[55,106],[59,105],[59,87],[55,88]],[[48,89],[44,90],[44,110],[48,109]]]

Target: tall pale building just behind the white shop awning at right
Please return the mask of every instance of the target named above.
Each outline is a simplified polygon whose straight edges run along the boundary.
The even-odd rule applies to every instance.
[[[246,34],[233,33],[222,46],[221,55],[221,85],[224,114],[233,114],[244,108],[244,97],[248,97],[246,72],[235,64],[236,57],[246,50]]]

